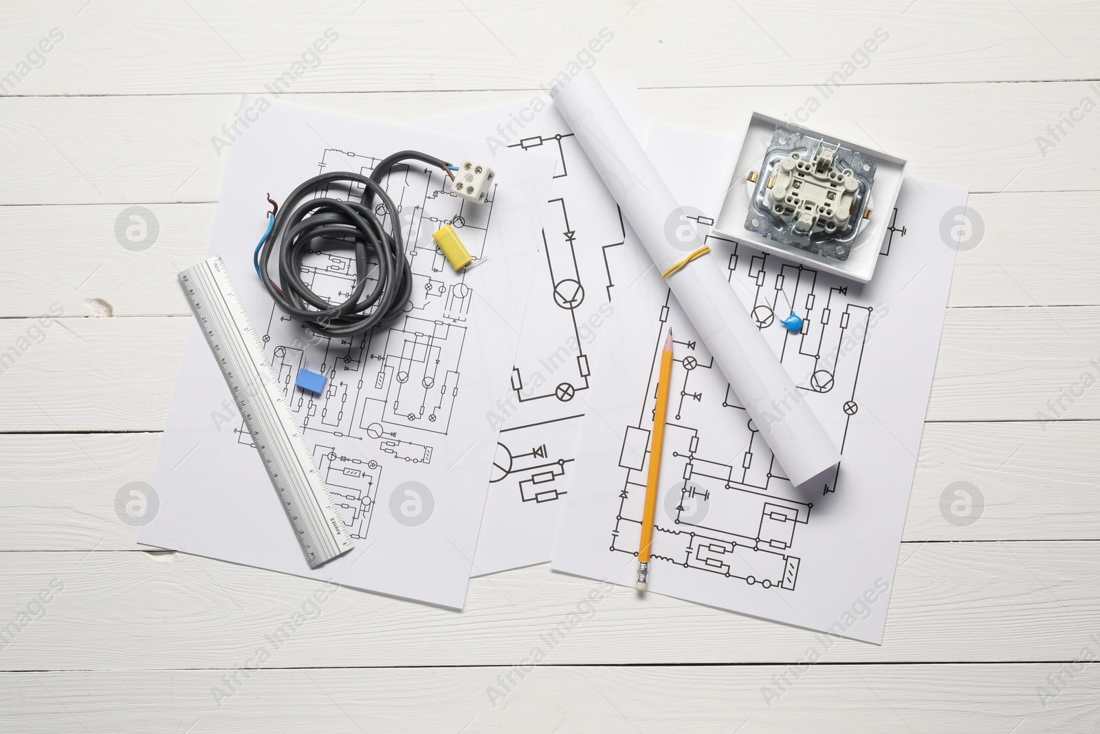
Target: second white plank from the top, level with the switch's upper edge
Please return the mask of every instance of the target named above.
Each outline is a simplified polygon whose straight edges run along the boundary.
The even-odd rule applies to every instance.
[[[644,90],[641,101],[651,120],[740,136],[750,111],[794,114],[814,95],[821,92],[812,86],[695,87]],[[1081,169],[1100,165],[1100,151],[1085,144],[1081,124],[1064,128],[1063,143],[1052,141],[1049,150],[1041,151],[1036,138],[1049,138],[1046,125],[1057,124],[1087,95],[1100,100],[1085,81],[857,85],[824,100],[807,124],[905,157],[916,176],[975,191],[1058,191]],[[422,91],[296,94],[282,100],[409,122],[492,103],[521,106],[529,98],[522,91]],[[228,156],[223,143],[213,141],[228,140],[222,128],[233,123],[239,103],[235,95],[0,98],[0,133],[15,142],[6,158],[0,205],[217,200]],[[505,142],[518,140],[521,131],[516,133]],[[1080,188],[1097,186],[1085,180]],[[1078,202],[1035,209],[1041,239],[1050,239],[1052,229],[1060,228],[1057,213]]]

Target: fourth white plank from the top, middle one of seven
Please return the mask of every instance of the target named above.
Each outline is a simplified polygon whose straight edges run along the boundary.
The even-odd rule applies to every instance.
[[[0,431],[161,430],[189,322],[62,318],[40,337],[34,319],[0,319]],[[949,309],[927,418],[1100,418],[1100,390],[1081,387],[1098,342],[1096,306]]]

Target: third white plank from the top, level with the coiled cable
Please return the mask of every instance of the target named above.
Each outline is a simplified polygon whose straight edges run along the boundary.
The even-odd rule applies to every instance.
[[[1100,193],[1070,201],[1062,193],[975,194],[970,206],[983,218],[986,234],[957,255],[952,306],[1100,305],[1100,259],[1091,212]],[[1052,238],[1043,220],[1021,218],[1037,207],[1059,222]],[[186,316],[176,283],[178,270],[206,255],[213,204],[153,204],[156,237],[132,250],[125,230],[152,231],[130,219],[129,205],[0,207],[0,231],[10,244],[0,273],[0,317],[35,316],[58,304],[82,316]],[[139,215],[148,219],[148,215]],[[119,223],[121,222],[121,223]],[[122,235],[117,234],[117,224]],[[1043,242],[1043,253],[1036,253]],[[131,247],[134,247],[131,244]],[[45,251],[48,256],[43,256]],[[1072,262],[1074,276],[1065,263]]]

